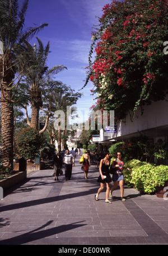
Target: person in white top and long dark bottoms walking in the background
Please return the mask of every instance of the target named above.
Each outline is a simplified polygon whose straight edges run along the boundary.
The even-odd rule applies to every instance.
[[[64,166],[65,166],[65,177],[66,180],[71,180],[72,175],[72,165],[74,166],[74,156],[69,150],[66,150],[66,153],[63,158]]]

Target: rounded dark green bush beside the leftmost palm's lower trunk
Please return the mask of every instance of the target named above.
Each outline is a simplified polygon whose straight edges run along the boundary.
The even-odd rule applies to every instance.
[[[23,129],[16,138],[17,151],[26,159],[34,159],[39,153],[41,136],[34,128]]]

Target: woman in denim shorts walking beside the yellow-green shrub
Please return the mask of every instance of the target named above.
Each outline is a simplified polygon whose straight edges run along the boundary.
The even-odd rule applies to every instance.
[[[131,171],[131,169],[124,167],[124,162],[122,161],[122,153],[117,152],[117,158],[113,160],[112,168],[115,168],[115,173],[113,174],[113,187],[110,190],[109,196],[112,198],[113,191],[118,187],[118,183],[120,186],[120,197],[122,201],[125,201],[125,198],[123,198],[124,194],[124,174],[123,169],[128,169]]]

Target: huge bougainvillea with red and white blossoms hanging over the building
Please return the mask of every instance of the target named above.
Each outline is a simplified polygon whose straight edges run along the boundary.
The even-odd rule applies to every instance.
[[[97,94],[94,110],[114,110],[115,120],[121,120],[138,106],[165,99],[167,6],[167,0],[114,0],[103,8],[87,67],[86,84],[90,79]]]

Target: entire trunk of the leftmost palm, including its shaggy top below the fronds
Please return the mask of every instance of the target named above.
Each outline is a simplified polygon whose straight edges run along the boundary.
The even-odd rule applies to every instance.
[[[12,67],[10,54],[0,55],[0,77],[1,77],[1,114],[2,114],[2,164],[9,170],[13,170],[13,134],[14,134],[14,113],[12,103],[12,85],[15,77],[15,70]]]

